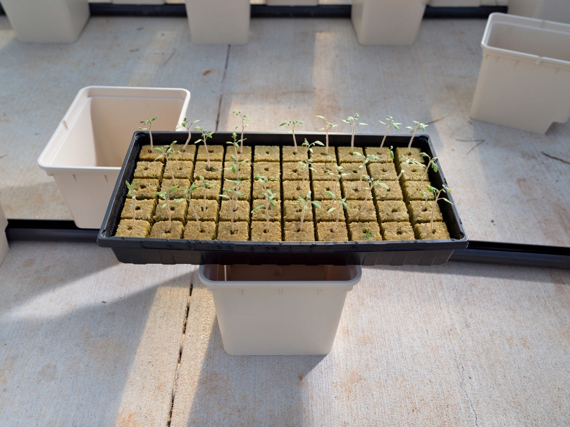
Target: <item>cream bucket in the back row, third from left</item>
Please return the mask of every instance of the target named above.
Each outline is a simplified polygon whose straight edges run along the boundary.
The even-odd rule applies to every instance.
[[[427,0],[354,0],[352,25],[364,45],[414,44]]]

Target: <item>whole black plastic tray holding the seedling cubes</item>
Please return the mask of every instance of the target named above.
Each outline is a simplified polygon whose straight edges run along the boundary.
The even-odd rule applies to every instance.
[[[153,132],[155,145],[171,144],[185,140],[180,132]],[[297,141],[324,141],[323,134],[296,134]],[[287,133],[246,134],[244,145],[292,145],[292,136]],[[380,146],[383,135],[357,135],[354,146]],[[385,146],[407,146],[410,136],[388,136]],[[195,139],[193,137],[192,139]],[[223,145],[231,140],[231,132],[216,132],[209,145]],[[120,221],[120,212],[126,198],[125,181],[131,181],[135,172],[140,148],[149,144],[148,132],[135,132],[128,153],[109,202],[109,208],[97,243],[112,248],[120,262],[132,264],[277,264],[277,265],[441,265],[449,260],[455,249],[468,245],[459,213],[455,205],[440,203],[443,219],[452,238],[433,241],[373,241],[373,242],[253,242],[253,241],[194,241],[162,238],[115,237]],[[350,136],[333,134],[329,136],[330,146],[347,146]],[[416,136],[414,147],[435,156],[430,138]],[[447,181],[438,162],[438,172],[429,171],[431,183],[441,188]],[[447,198],[453,201],[452,195]]]

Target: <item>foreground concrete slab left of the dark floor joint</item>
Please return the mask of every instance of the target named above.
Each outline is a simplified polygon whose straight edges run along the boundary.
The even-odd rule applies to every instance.
[[[88,243],[11,243],[0,267],[1,426],[166,426],[194,268]]]

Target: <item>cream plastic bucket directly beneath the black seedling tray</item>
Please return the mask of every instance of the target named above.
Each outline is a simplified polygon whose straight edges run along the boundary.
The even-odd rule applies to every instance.
[[[225,352],[326,355],[359,265],[201,265]]]

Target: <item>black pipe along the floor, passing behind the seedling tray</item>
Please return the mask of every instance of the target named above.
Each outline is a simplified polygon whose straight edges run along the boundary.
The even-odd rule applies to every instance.
[[[6,228],[8,241],[96,243],[98,233],[56,219],[8,219]],[[455,250],[450,261],[570,269],[570,248],[469,241],[469,248]]]

